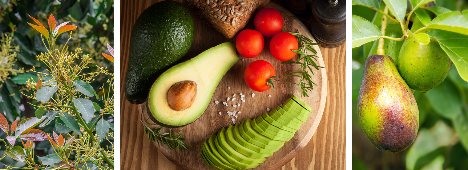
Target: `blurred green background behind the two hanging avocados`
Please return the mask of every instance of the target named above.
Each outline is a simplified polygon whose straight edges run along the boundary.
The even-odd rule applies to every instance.
[[[456,11],[467,9],[467,2],[435,1],[439,7]],[[353,15],[369,21],[375,13],[366,7],[353,6]],[[461,79],[454,65],[439,86],[425,94],[415,91],[420,127],[416,140],[408,149],[399,153],[381,152],[369,142],[359,124],[357,100],[365,59],[370,55],[372,45],[373,42],[369,42],[352,50],[353,169],[468,170],[468,82]]]

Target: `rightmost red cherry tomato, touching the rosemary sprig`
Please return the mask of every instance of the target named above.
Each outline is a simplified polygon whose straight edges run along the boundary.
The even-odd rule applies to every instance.
[[[281,32],[273,36],[270,41],[270,52],[278,60],[286,61],[291,60],[296,53],[292,50],[297,50],[299,44],[294,35]]]

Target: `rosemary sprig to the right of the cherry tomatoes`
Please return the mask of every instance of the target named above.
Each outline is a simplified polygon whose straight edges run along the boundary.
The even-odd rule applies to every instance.
[[[292,50],[292,51],[298,54],[298,60],[286,61],[286,62],[283,62],[283,64],[299,64],[300,68],[292,71],[293,74],[283,75],[283,77],[290,77],[290,76],[300,77],[299,83],[295,83],[295,82],[286,82],[286,83],[292,83],[292,84],[296,84],[300,86],[302,96],[308,97],[309,95],[307,93],[314,89],[314,85],[315,86],[317,85],[312,81],[312,76],[309,75],[309,73],[307,72],[307,69],[310,71],[312,75],[314,75],[314,71],[312,67],[314,67],[317,70],[319,68],[325,68],[322,66],[318,66],[317,63],[315,62],[317,61],[318,56],[314,54],[317,54],[317,51],[314,48],[312,48],[313,45],[321,46],[321,44],[313,43],[311,39],[307,38],[306,36],[302,34],[299,34],[299,31],[298,33],[292,33],[292,32],[288,32],[288,33],[293,34],[297,37],[297,42],[299,43],[299,50]],[[314,54],[307,54],[307,50],[312,51]]]

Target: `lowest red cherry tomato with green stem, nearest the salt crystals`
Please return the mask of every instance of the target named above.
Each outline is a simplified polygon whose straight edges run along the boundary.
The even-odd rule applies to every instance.
[[[247,68],[245,68],[244,72],[244,79],[247,86],[252,88],[252,90],[260,92],[266,91],[272,86],[274,88],[274,84],[268,86],[269,82],[272,84],[273,81],[275,81],[275,79],[272,78],[273,76],[275,76],[275,69],[269,62],[263,60],[251,62]]]

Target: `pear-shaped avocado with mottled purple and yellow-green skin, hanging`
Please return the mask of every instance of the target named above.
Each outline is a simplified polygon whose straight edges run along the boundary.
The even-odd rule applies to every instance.
[[[358,119],[364,134],[379,150],[400,152],[417,136],[416,99],[389,56],[373,54],[366,60]]]

